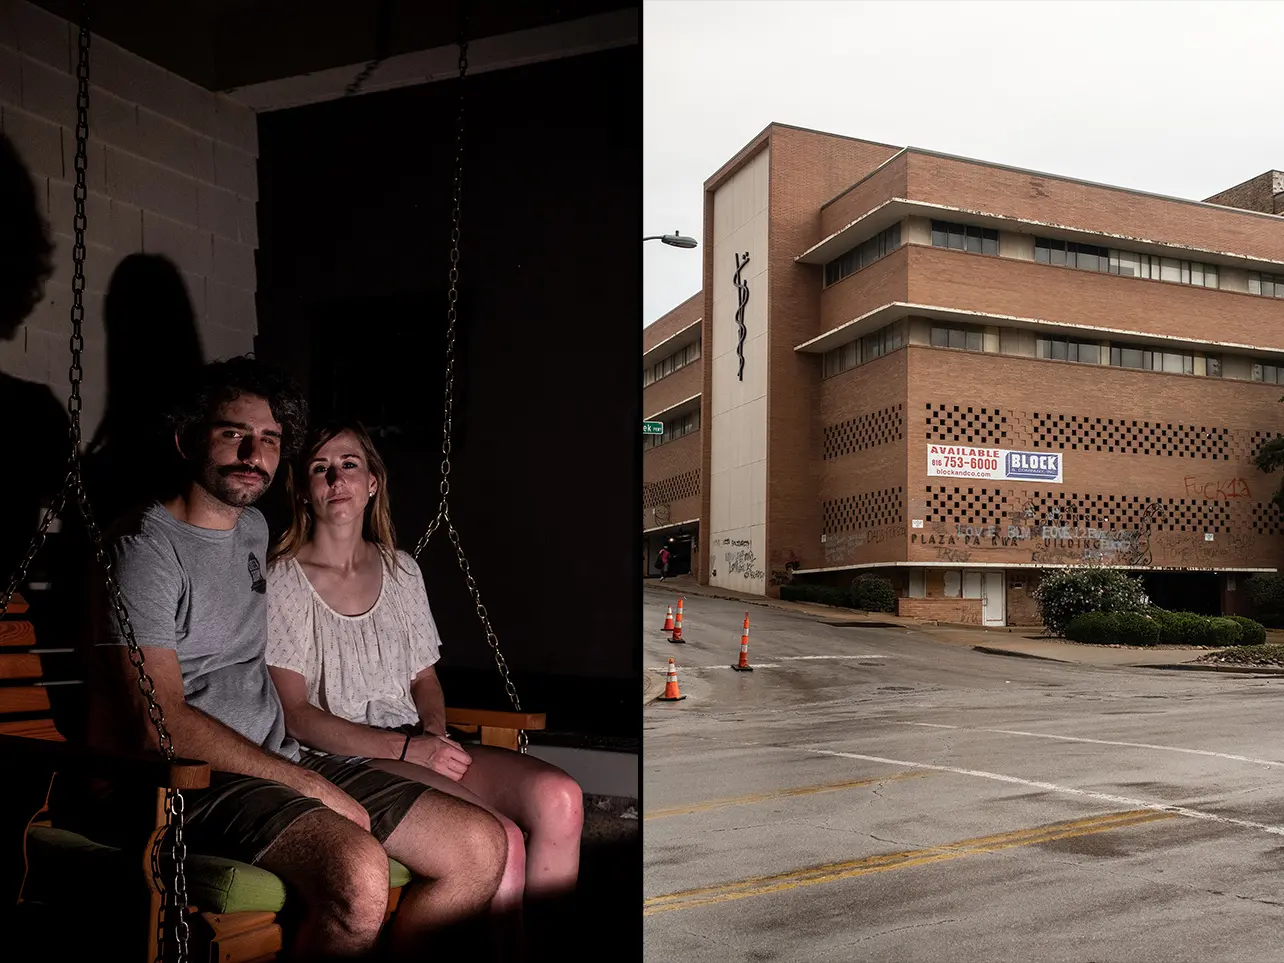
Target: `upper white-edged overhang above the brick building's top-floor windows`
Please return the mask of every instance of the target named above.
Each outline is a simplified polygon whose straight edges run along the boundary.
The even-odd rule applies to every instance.
[[[999,231],[1035,234],[1041,238],[1095,244],[1102,248],[1113,247],[1138,254],[1157,254],[1159,257],[1185,258],[1186,261],[1203,261],[1210,265],[1238,267],[1247,271],[1278,271],[1284,267],[1284,261],[1271,261],[1269,258],[1258,258],[1252,257],[1251,254],[1240,254],[1230,250],[1181,247],[1148,238],[1136,238],[1127,234],[1103,234],[1100,231],[1088,231],[1081,227],[1075,227],[1073,225],[1032,221],[1023,217],[1007,217],[1004,214],[995,214],[986,211],[971,211],[968,208],[949,207],[946,204],[932,204],[924,200],[909,200],[908,198],[891,198],[885,200],[872,211],[868,211],[858,217],[855,221],[840,227],[819,244],[811,245],[794,259],[800,265],[827,265],[836,257],[846,254],[853,248],[863,244],[880,231],[891,227],[891,225],[905,217],[930,217],[939,221],[963,220],[969,225],[993,227]]]

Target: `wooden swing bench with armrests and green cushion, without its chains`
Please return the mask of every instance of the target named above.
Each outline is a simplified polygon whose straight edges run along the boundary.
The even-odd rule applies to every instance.
[[[200,790],[209,785],[209,765],[199,760],[166,760],[159,752],[110,754],[64,738],[50,702],[51,686],[59,693],[81,687],[78,679],[50,678],[45,664],[56,664],[41,650],[36,630],[22,616],[28,606],[14,596],[0,620],[0,882],[3,901],[14,907],[18,930],[23,915],[45,914],[49,922],[35,930],[48,939],[50,926],[80,928],[86,903],[103,898],[96,918],[108,919],[112,936],[95,941],[104,958],[134,958],[152,963],[157,953],[157,912],[162,891],[155,878],[152,850],[164,827],[167,788]],[[517,750],[520,729],[544,728],[542,713],[447,709],[452,731],[476,734],[482,745]],[[109,778],[140,791],[150,791],[155,811],[140,813],[136,847],[95,842],[59,828],[50,818],[50,783],[55,773],[67,777]],[[410,871],[388,860],[388,910],[397,908]],[[279,914],[289,892],[273,873],[231,859],[187,853],[185,863],[189,924],[189,959],[194,963],[259,963],[275,960],[282,949]],[[0,946],[13,946],[13,927],[4,927]],[[125,940],[131,946],[122,946]],[[42,940],[44,942],[44,940]],[[128,955],[121,953],[125,949]],[[144,957],[144,953],[146,954]],[[8,957],[6,953],[0,955]],[[15,958],[15,957],[13,957]],[[37,958],[58,958],[48,946]],[[23,957],[26,959],[26,957]]]

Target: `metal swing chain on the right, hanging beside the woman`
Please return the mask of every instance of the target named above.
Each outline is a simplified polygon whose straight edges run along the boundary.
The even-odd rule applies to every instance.
[[[460,562],[460,571],[464,573],[464,580],[467,583],[469,594],[473,597],[473,605],[476,606],[478,618],[482,620],[482,627],[485,629],[485,641],[494,652],[494,664],[498,666],[499,674],[503,677],[503,688],[508,693],[508,701],[512,702],[512,710],[515,713],[520,713],[521,700],[517,697],[517,687],[512,684],[512,679],[508,675],[508,664],[503,660],[503,654],[499,651],[499,637],[490,625],[490,616],[487,612],[485,606],[482,603],[482,596],[478,592],[476,579],[473,578],[469,561],[464,556],[464,547],[460,544],[460,533],[456,532],[455,523],[451,521],[451,507],[448,505],[451,494],[451,416],[455,399],[455,322],[458,317],[460,198],[462,194],[464,180],[464,76],[469,69],[469,42],[465,31],[466,18],[466,9],[461,9],[460,112],[455,132],[455,190],[451,205],[451,288],[446,295],[446,401],[442,412],[442,501],[437,506],[437,517],[429,523],[428,532],[424,533],[424,537],[419,539],[419,544],[415,546],[415,559],[419,559],[420,553],[428,546],[429,539],[433,537],[433,533],[437,532],[437,529],[444,523],[446,534],[451,539],[451,544],[455,546],[455,556]],[[529,738],[526,736],[526,731],[519,729],[517,750],[525,754],[528,745]]]

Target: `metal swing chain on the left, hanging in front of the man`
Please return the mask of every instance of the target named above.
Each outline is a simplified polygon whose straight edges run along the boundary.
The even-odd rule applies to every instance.
[[[9,602],[14,593],[18,591],[18,586],[26,579],[27,571],[31,568],[32,561],[40,553],[40,550],[45,544],[45,539],[49,533],[49,526],[55,517],[62,515],[63,508],[67,506],[68,496],[74,493],[76,503],[80,508],[81,516],[85,521],[85,528],[89,532],[90,538],[94,544],[94,555],[99,565],[103,568],[104,579],[107,582],[108,597],[112,603],[113,612],[116,615],[117,623],[125,636],[126,647],[128,650],[130,664],[135,668],[139,674],[139,691],[143,693],[148,704],[148,718],[152,725],[157,731],[157,741],[159,745],[160,754],[167,760],[173,760],[173,741],[169,737],[168,727],[164,723],[164,713],[162,711],[159,704],[155,701],[155,684],[153,683],[150,675],[148,675],[143,652],[139,648],[137,639],[134,637],[134,625],[130,621],[128,612],[125,609],[125,600],[121,596],[121,589],[112,575],[112,561],[107,555],[107,550],[103,546],[103,535],[98,528],[98,523],[94,520],[94,512],[90,507],[89,493],[85,490],[85,479],[81,471],[81,380],[85,375],[85,370],[81,365],[81,354],[85,349],[85,231],[89,226],[87,217],[85,214],[85,202],[89,196],[89,190],[86,186],[86,171],[89,167],[89,49],[90,49],[90,30],[89,30],[89,0],[82,0],[81,3],[81,24],[80,24],[80,42],[78,51],[80,56],[76,65],[76,78],[77,78],[77,91],[76,91],[76,185],[73,189],[73,198],[76,202],[76,214],[73,221],[74,230],[74,244],[72,247],[72,263],[73,263],[73,276],[72,276],[72,335],[69,340],[72,361],[68,367],[68,377],[71,380],[71,395],[67,401],[67,412],[71,416],[71,428],[68,429],[68,443],[69,452],[67,457],[67,475],[63,479],[62,488],[54,499],[54,502],[45,511],[41,519],[40,528],[32,537],[31,546],[27,550],[27,555],[23,557],[22,562],[18,565],[13,577],[5,588],[4,596],[0,597],[0,616],[9,609]],[[177,819],[175,819],[177,817]],[[177,910],[177,922],[175,924],[175,942],[176,942],[176,960],[177,963],[185,963],[187,959],[187,939],[189,939],[189,926],[186,921],[186,907],[187,907],[187,883],[184,872],[184,863],[186,860],[186,845],[184,842],[184,800],[182,794],[178,790],[171,788],[166,794],[166,826],[164,836],[173,838],[172,853],[176,859],[175,865],[175,880],[172,891],[166,889],[166,899],[162,900],[160,910],[157,917],[157,930],[160,940],[158,940],[157,958],[155,963],[162,963],[164,959],[164,918],[167,908]],[[155,874],[159,880],[159,873]],[[175,899],[176,896],[176,899]]]

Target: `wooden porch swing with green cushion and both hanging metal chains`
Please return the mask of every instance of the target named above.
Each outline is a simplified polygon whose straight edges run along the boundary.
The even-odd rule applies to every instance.
[[[180,758],[169,737],[164,711],[155,700],[154,686],[146,672],[143,652],[134,636],[134,628],[119,588],[112,575],[110,560],[103,544],[101,532],[94,519],[89,494],[81,475],[81,381],[83,370],[83,291],[85,291],[85,231],[87,226],[86,169],[89,139],[89,3],[82,0],[78,33],[77,62],[77,123],[76,123],[76,185],[74,185],[74,247],[71,308],[71,352],[68,370],[71,393],[67,410],[71,415],[68,433],[69,452],[67,474],[54,503],[44,514],[26,556],[9,579],[0,596],[0,764],[12,777],[0,791],[0,905],[13,908],[19,928],[36,921],[36,913],[48,913],[45,928],[72,923],[92,915],[86,905],[100,894],[125,894],[127,903],[121,909],[99,910],[112,919],[112,930],[123,930],[136,939],[130,948],[131,958],[141,958],[143,940],[146,940],[146,960],[163,963],[187,959],[209,959],[221,963],[259,963],[275,960],[282,949],[281,927],[277,914],[286,903],[284,882],[275,874],[230,859],[187,853],[184,841],[184,792],[205,788],[209,785],[207,763]],[[383,48],[383,42],[380,42]],[[442,424],[440,501],[437,515],[415,547],[417,560],[438,530],[455,548],[465,584],[476,610],[478,619],[490,646],[503,687],[512,704],[512,711],[473,710],[447,707],[447,725],[456,732],[476,734],[483,745],[499,746],[519,752],[528,749],[526,732],[542,729],[542,713],[525,713],[508,666],[499,651],[498,637],[482,602],[476,580],[469,568],[460,542],[460,534],[449,514],[451,475],[451,419],[453,408],[455,336],[457,322],[457,281],[460,259],[460,198],[464,148],[464,77],[467,71],[467,39],[465,13],[461,9],[458,40],[460,108],[456,130],[455,182],[451,214],[451,268],[447,306],[446,340],[446,392]],[[381,62],[383,51],[366,64],[357,78],[348,85],[345,96],[354,94]],[[36,633],[31,621],[22,619],[28,605],[18,594],[27,570],[45,543],[50,525],[69,498],[76,506],[92,552],[101,566],[107,597],[121,627],[128,648],[130,663],[137,672],[139,690],[146,700],[148,716],[157,732],[159,751],[113,754],[90,750],[68,742],[58,731],[51,715],[51,705],[45,688],[46,679],[41,654],[36,650]],[[18,616],[18,618],[15,618]],[[8,650],[8,654],[5,654]],[[146,838],[139,838],[136,849],[122,851],[103,846],[53,824],[50,796],[56,774],[110,778],[121,785],[150,790],[155,797],[154,813],[144,813],[152,829]],[[141,869],[141,874],[136,874]],[[389,900],[385,922],[395,912],[403,886],[411,880],[406,867],[389,860]],[[15,900],[15,904],[13,903]],[[141,903],[146,901],[144,918]],[[137,924],[119,924],[121,917]],[[26,918],[24,918],[26,917]],[[148,922],[150,921],[150,922]],[[41,932],[41,923],[32,927]],[[9,927],[0,946],[13,946]],[[35,935],[35,933],[33,933]],[[33,946],[39,951],[39,946]],[[118,946],[108,949],[117,958]],[[46,953],[55,951],[49,946]]]

